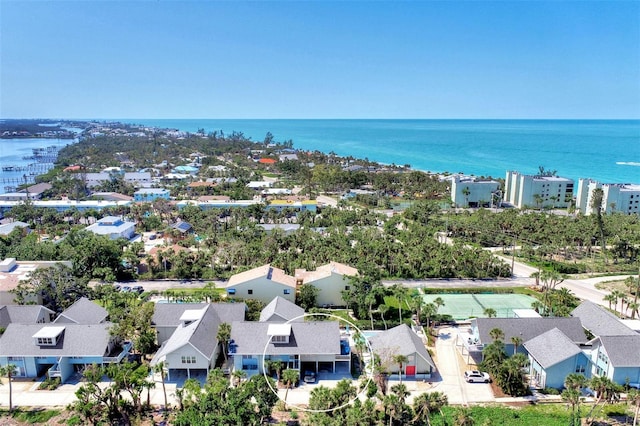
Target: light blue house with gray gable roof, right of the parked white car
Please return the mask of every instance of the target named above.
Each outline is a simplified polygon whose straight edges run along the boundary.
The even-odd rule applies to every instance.
[[[560,389],[570,373],[590,377],[587,355],[557,328],[524,342],[523,347],[529,356],[529,376],[535,387]]]

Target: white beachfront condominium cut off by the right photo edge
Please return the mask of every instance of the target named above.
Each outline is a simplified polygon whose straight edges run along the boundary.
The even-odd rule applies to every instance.
[[[594,191],[602,190],[602,213],[621,212],[640,215],[640,184],[600,183],[591,179],[578,180],[576,208],[584,215],[594,214]]]

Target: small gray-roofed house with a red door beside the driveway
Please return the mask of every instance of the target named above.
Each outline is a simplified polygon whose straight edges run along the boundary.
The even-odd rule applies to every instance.
[[[369,338],[371,349],[380,358],[389,374],[402,374],[406,378],[426,379],[436,369],[425,343],[409,326],[400,324]],[[400,365],[394,361],[395,355],[404,355],[407,361]]]

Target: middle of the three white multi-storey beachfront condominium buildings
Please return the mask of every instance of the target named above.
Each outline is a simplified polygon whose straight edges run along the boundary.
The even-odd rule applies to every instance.
[[[553,174],[508,171],[504,186],[504,201],[520,209],[567,207],[573,200],[573,179]]]

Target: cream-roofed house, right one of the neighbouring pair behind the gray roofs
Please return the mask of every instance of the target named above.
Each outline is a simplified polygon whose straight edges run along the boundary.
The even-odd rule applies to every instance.
[[[330,262],[316,268],[315,271],[296,269],[298,284],[311,284],[318,289],[318,306],[345,306],[342,292],[349,290],[350,277],[358,275],[358,270],[338,262]]]

